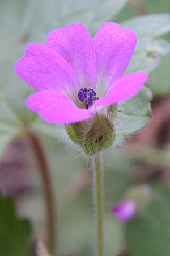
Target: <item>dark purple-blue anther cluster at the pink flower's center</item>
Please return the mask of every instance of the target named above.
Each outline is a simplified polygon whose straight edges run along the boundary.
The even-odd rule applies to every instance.
[[[93,101],[98,100],[99,98],[96,97],[96,92],[92,88],[82,88],[78,92],[78,98],[80,101],[84,102],[86,109],[92,105]]]

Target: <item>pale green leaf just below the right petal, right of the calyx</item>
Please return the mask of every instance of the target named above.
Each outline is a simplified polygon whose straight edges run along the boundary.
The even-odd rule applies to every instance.
[[[120,126],[125,135],[131,135],[142,130],[150,121],[152,93],[144,86],[141,91],[130,100],[118,104]]]

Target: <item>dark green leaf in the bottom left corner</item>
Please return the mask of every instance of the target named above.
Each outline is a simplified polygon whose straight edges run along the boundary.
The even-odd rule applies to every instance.
[[[28,256],[31,247],[31,225],[18,218],[14,201],[0,196],[0,247],[3,256]]]

